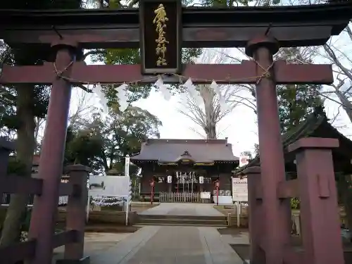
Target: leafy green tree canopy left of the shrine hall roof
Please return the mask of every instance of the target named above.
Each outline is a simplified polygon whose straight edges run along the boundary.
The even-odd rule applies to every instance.
[[[148,111],[130,106],[121,112],[111,108],[108,117],[93,115],[68,128],[65,164],[81,163],[94,172],[114,169],[123,173],[125,156],[138,153],[147,138],[158,138],[161,121]]]

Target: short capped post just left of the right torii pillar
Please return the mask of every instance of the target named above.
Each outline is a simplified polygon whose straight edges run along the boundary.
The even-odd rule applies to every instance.
[[[262,200],[257,199],[256,190],[262,184],[260,182],[260,167],[246,168],[242,175],[247,175],[248,182],[248,203],[249,203],[249,241],[251,264],[265,263],[265,253],[260,248],[260,240],[263,233],[263,206]]]

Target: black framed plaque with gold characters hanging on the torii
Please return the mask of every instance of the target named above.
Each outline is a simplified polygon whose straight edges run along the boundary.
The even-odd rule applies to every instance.
[[[180,73],[182,6],[179,0],[140,0],[142,74]]]

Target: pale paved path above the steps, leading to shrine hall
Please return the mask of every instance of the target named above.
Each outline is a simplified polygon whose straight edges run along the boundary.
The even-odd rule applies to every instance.
[[[211,203],[161,203],[159,206],[149,208],[139,214],[224,216],[214,209]]]

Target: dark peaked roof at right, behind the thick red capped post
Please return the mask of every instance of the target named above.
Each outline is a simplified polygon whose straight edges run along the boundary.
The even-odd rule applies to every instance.
[[[294,129],[282,135],[282,145],[284,147],[285,163],[290,162],[287,158],[287,146],[296,142],[298,139],[305,137],[323,137],[339,139],[339,148],[333,149],[333,154],[339,153],[339,157],[351,161],[352,158],[352,141],[344,134],[341,134],[335,127],[329,123],[329,119],[322,107],[315,108],[315,111],[308,115],[306,120],[300,122]],[[248,165],[239,168],[235,173],[240,174],[245,168],[259,166],[260,158],[257,156]],[[351,164],[349,164],[351,165]],[[345,167],[346,168],[346,167]]]

